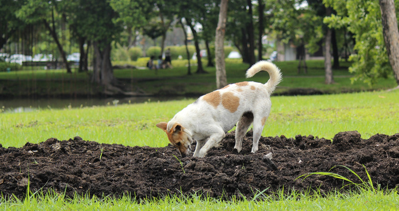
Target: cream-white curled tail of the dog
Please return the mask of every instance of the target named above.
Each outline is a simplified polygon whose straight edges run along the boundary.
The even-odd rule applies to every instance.
[[[268,87],[269,93],[272,93],[282,80],[280,69],[272,62],[258,61],[248,69],[246,76],[247,78],[251,78],[260,71],[267,71],[269,73],[270,79],[264,85]]]

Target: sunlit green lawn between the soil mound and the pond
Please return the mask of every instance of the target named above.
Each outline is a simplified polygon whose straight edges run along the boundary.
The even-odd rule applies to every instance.
[[[358,130],[363,138],[376,133],[399,132],[399,91],[359,92],[322,96],[272,97],[272,111],[263,136],[297,134],[333,138],[340,131]],[[37,109],[0,113],[0,137],[4,147],[39,143],[47,138],[81,136],[99,143],[162,147],[168,144],[155,125],[195,99],[147,102],[103,107]]]

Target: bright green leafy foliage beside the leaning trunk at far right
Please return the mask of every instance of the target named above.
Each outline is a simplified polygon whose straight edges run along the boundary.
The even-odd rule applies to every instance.
[[[329,27],[346,27],[354,34],[356,44],[353,50],[357,54],[349,57],[353,65],[349,71],[356,74],[353,81],[361,80],[374,84],[378,78],[392,77],[387,50],[382,32],[381,11],[378,0],[323,0],[327,6],[333,7],[337,15],[325,17]],[[395,1],[396,8],[399,2]],[[398,14],[396,9],[396,14]],[[397,15],[399,18],[399,15]]]

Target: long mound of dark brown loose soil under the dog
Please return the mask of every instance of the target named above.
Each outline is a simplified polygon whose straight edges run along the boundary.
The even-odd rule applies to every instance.
[[[4,196],[23,198],[29,182],[31,192],[55,190],[70,197],[76,192],[98,197],[130,194],[142,199],[199,191],[228,199],[253,197],[265,189],[263,194],[273,194],[281,187],[285,191],[320,188],[328,192],[340,189],[343,182],[327,176],[296,178],[337,165],[367,180],[364,165],[374,183],[390,189],[399,184],[399,133],[362,139],[357,131],[340,132],[332,143],[313,135],[261,137],[255,154],[251,153],[252,131],[243,140],[240,153],[233,150],[234,142],[234,132],[228,133],[205,158],[181,158],[171,145],[126,147],[80,137],[49,138],[22,148],[0,145],[0,191]],[[271,160],[265,157],[270,152]],[[345,168],[332,172],[360,182]]]

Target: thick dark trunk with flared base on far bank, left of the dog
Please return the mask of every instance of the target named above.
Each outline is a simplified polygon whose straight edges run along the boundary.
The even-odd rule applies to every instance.
[[[106,43],[104,48],[100,48],[98,41],[93,42],[95,59],[93,62],[92,81],[101,85],[108,86],[114,80],[114,72],[110,60],[111,44]]]

